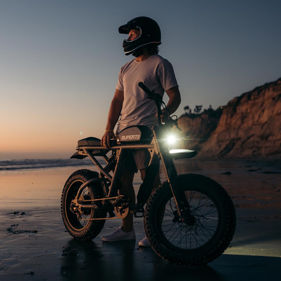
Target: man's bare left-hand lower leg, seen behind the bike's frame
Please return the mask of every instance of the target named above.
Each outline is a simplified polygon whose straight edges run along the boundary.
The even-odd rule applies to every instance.
[[[136,196],[133,188],[134,172],[124,170],[121,176],[122,188],[120,194],[129,196],[132,203],[135,203]],[[122,220],[122,230],[124,232],[131,232],[133,230],[133,214],[129,214]]]

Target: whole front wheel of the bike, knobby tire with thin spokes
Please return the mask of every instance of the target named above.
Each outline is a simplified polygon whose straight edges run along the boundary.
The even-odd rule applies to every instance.
[[[146,205],[146,237],[153,250],[171,263],[207,264],[219,257],[232,240],[234,205],[225,189],[208,177],[187,174],[176,180],[186,196],[193,222],[185,222],[178,215],[169,183],[164,182]]]

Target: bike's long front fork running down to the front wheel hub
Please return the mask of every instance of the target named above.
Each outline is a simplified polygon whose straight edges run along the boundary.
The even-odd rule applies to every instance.
[[[192,216],[189,203],[185,192],[181,190],[177,182],[177,172],[172,157],[169,155],[169,150],[165,147],[165,142],[158,142],[163,134],[160,127],[152,127],[152,132],[155,140],[156,153],[160,155],[163,168],[167,176],[167,181],[171,187],[173,197],[175,199],[178,215],[182,221],[188,225],[195,223],[195,218]]]

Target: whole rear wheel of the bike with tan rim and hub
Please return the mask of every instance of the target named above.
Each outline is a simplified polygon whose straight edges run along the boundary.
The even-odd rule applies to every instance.
[[[65,228],[70,235],[79,240],[91,240],[95,238],[105,224],[105,220],[99,218],[106,217],[106,211],[73,205],[73,200],[81,185],[92,178],[98,178],[98,173],[87,169],[78,170],[68,178],[62,191],[61,211]],[[100,183],[92,183],[83,189],[78,200],[97,199],[100,198],[101,193]],[[86,201],[83,204],[91,205],[92,201]]]

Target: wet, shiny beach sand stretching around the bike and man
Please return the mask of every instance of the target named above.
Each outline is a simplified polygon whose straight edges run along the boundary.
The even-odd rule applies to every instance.
[[[60,197],[68,176],[82,167],[18,171],[0,175],[1,280],[280,280],[281,162],[178,160],[176,166],[178,173],[213,178],[232,197],[236,232],[218,259],[174,266],[138,248],[142,218],[134,219],[136,241],[101,241],[119,219],[106,221],[92,241],[75,241],[62,223]]]

